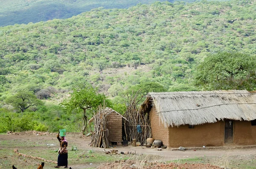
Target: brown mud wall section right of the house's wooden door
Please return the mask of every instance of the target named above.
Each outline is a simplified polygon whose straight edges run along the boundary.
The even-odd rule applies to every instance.
[[[256,145],[256,126],[252,126],[250,121],[233,121],[233,143]]]

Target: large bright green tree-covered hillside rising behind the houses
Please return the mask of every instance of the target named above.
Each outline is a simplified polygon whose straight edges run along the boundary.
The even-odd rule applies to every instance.
[[[195,90],[193,69],[209,54],[256,54],[255,10],[247,0],[155,2],[2,27],[1,98],[20,89],[48,98],[87,82],[116,100],[146,82]]]

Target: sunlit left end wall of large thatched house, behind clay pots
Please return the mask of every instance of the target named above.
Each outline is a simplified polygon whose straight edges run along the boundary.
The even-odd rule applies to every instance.
[[[159,116],[157,115],[156,109],[153,106],[149,112],[152,137],[155,140],[162,140],[163,145],[169,146],[169,129],[165,128],[161,123]]]

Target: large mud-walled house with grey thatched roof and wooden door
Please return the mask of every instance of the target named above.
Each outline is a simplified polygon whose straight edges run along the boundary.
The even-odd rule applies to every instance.
[[[256,94],[151,92],[141,105],[152,137],[169,147],[256,145]]]

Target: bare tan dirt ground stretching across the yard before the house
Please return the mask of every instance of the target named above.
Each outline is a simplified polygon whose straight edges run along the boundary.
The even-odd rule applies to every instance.
[[[17,140],[17,142],[24,143],[29,140],[44,140],[44,143],[52,143],[55,141],[56,135],[33,135],[31,132],[19,133],[19,135],[0,135],[0,151],[3,148],[3,141],[8,140]],[[78,137],[75,134],[67,134],[66,139],[69,144],[76,145],[80,150],[93,150],[97,152],[103,152],[102,148],[90,147],[89,137]],[[56,141],[55,141],[56,142]],[[58,145],[56,145],[58,146]],[[19,144],[12,147],[13,149],[19,149]],[[113,163],[96,163],[93,165],[84,164],[84,165],[73,165],[72,169],[78,168],[99,168],[99,169],[131,169],[131,168],[144,168],[146,166],[148,169],[217,169],[217,168],[227,168],[232,166],[232,168],[240,169],[256,169],[256,147],[247,146],[237,147],[237,146],[227,146],[223,148],[218,147],[206,147],[206,148],[189,148],[186,151],[172,151],[172,149],[163,149],[162,151],[157,151],[156,148],[147,148],[145,146],[131,146],[129,144],[127,147],[122,145],[113,145],[110,149],[105,149],[105,151],[110,151],[111,149],[118,149],[118,152],[134,152],[136,155],[155,155],[154,159],[144,160],[138,162],[137,160],[119,160]],[[113,155],[112,155],[113,156]],[[0,162],[3,161],[6,157],[0,156]],[[200,158],[202,163],[198,161],[193,162],[193,159]],[[184,163],[184,161],[187,163]],[[183,161],[183,162],[182,162]],[[174,163],[175,162],[175,163]],[[207,164],[207,163],[211,163]],[[1,164],[2,165],[2,164]],[[2,166],[4,169],[5,167]],[[1,166],[0,166],[1,169]]]

